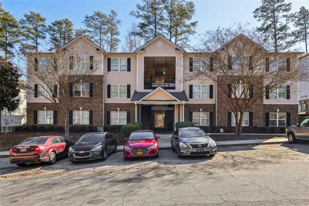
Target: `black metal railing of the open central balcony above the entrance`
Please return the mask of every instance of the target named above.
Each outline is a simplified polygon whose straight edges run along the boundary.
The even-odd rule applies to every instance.
[[[150,79],[144,79],[144,89],[175,89],[175,75],[151,75]]]

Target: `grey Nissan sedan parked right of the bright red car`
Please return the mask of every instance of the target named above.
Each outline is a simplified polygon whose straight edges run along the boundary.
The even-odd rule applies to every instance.
[[[177,129],[171,138],[172,151],[179,158],[187,156],[210,155],[217,153],[216,142],[199,127]]]

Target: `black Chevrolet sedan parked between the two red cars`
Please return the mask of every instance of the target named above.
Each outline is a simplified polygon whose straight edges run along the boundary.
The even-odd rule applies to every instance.
[[[69,148],[69,161],[106,160],[109,153],[117,152],[116,138],[108,132],[83,135]]]

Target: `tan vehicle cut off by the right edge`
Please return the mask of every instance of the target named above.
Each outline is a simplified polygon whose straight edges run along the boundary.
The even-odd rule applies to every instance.
[[[297,139],[309,140],[309,117],[304,118],[300,123],[286,128],[286,137],[289,143],[296,143]]]

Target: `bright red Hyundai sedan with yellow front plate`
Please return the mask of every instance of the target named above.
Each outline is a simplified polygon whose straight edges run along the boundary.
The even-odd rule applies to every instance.
[[[125,159],[135,157],[159,157],[158,139],[152,130],[133,131],[123,147]]]

